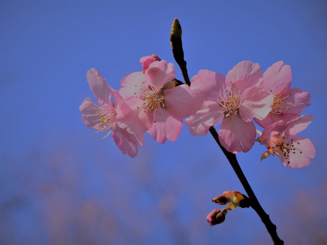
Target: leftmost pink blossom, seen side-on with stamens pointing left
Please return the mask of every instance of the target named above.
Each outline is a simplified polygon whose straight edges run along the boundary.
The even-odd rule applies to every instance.
[[[105,137],[107,137],[111,133],[119,150],[125,155],[135,157],[137,155],[137,146],[143,145],[144,135],[131,134],[116,124],[116,115],[119,113],[118,102],[123,103],[122,96],[111,87],[110,92],[106,80],[95,68],[88,70],[86,76],[99,105],[91,102],[89,97],[84,100],[80,106],[84,124],[89,128],[96,129],[95,134],[106,132]],[[111,95],[114,100],[113,104],[111,104]]]

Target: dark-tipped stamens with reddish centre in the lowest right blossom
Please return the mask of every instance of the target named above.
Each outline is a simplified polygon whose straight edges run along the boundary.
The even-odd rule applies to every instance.
[[[302,154],[298,149],[300,143],[287,137],[276,136],[267,147],[272,150],[272,155],[276,155],[278,158],[287,160],[287,164],[290,164],[290,154]]]

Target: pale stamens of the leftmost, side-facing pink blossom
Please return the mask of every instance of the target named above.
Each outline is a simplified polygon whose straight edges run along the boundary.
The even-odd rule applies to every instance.
[[[91,106],[91,107],[94,108],[94,106]],[[95,126],[90,127],[90,128],[98,129],[98,131],[95,132],[94,134],[106,131],[115,125],[117,112],[113,107],[108,107],[106,105],[103,105],[103,106],[97,106],[94,109],[95,109],[94,110],[95,114],[90,115],[90,116],[97,116],[97,115],[99,116],[99,118],[97,120],[92,120],[93,122],[95,122]],[[111,133],[111,131],[112,130],[110,130],[109,132],[106,132],[105,137],[107,137]],[[105,137],[103,137],[101,139],[101,141]]]

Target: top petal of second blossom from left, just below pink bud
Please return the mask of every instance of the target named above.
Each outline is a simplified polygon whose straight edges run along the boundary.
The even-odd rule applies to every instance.
[[[155,90],[160,90],[166,83],[175,78],[174,67],[173,63],[167,64],[166,60],[154,61],[145,72],[147,83]]]

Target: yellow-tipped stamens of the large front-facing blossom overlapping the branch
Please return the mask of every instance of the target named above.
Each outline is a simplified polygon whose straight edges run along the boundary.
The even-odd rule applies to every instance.
[[[231,82],[230,82],[231,83]],[[240,114],[240,101],[241,101],[241,91],[236,87],[227,87],[225,89],[224,84],[219,90],[219,96],[217,103],[220,105],[219,112],[223,112],[225,117],[229,117],[232,113]]]

